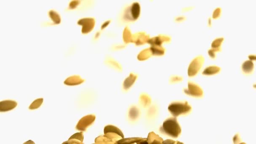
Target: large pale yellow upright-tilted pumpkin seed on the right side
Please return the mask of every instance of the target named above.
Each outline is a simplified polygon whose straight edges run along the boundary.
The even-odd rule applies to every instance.
[[[204,62],[205,62],[205,59],[203,56],[195,57],[190,62],[188,70],[187,70],[189,77],[195,76],[198,73],[198,71],[202,68]]]

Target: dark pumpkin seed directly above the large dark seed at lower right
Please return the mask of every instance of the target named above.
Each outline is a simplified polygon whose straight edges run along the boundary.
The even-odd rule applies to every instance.
[[[187,101],[185,102],[173,102],[168,106],[169,111],[175,115],[181,115],[184,113],[187,113],[191,110],[191,106],[187,103]]]

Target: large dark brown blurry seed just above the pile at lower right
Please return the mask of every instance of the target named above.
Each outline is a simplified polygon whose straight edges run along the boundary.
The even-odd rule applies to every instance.
[[[181,133],[181,127],[176,120],[168,119],[163,122],[163,129],[171,136],[178,137]]]

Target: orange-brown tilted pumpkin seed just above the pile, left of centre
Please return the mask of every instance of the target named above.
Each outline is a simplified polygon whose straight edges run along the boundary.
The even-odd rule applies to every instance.
[[[78,121],[76,128],[80,131],[85,131],[94,122],[95,118],[95,115],[85,115]]]

